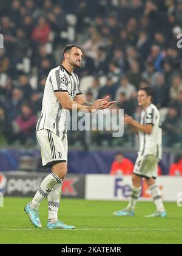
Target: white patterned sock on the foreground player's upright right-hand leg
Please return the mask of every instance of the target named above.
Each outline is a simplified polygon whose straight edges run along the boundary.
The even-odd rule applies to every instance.
[[[55,222],[58,221],[58,210],[61,200],[61,188],[61,183],[56,184],[55,187],[53,187],[53,190],[50,192],[49,196],[47,196],[49,202],[48,221],[50,224],[55,224]]]

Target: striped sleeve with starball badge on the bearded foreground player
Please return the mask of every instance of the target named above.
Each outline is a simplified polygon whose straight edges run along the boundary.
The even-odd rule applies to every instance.
[[[50,83],[53,86],[53,90],[56,92],[67,92],[67,76],[64,71],[54,70],[50,73]]]

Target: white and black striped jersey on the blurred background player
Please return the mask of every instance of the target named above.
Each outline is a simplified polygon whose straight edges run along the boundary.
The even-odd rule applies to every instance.
[[[139,155],[155,155],[162,158],[162,129],[160,123],[160,112],[155,105],[150,104],[146,110],[141,112],[141,124],[152,124],[152,133],[139,132],[140,151]]]

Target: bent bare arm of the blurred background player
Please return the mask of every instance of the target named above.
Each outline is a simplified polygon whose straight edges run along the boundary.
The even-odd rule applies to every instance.
[[[128,116],[128,115],[124,117],[124,123],[129,126],[132,126],[132,128],[135,129],[136,132],[139,132],[141,130],[141,132],[150,134],[152,133],[152,130],[153,130],[152,124],[142,125],[137,121],[135,121],[135,119],[133,119],[132,116]]]

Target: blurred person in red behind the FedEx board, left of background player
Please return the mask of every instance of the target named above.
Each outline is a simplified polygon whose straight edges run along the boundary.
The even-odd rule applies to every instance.
[[[124,157],[122,152],[118,152],[115,156],[115,162],[112,163],[110,175],[131,175],[133,168],[133,163]]]

